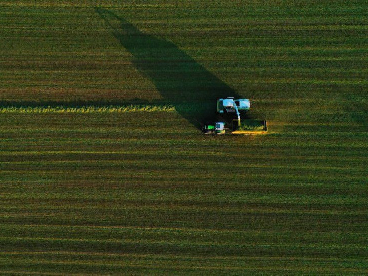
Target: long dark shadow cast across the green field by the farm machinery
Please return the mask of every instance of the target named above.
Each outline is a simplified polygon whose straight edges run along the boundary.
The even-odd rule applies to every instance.
[[[232,88],[173,43],[142,33],[109,10],[95,8],[95,11],[121,46],[132,55],[135,68],[150,79],[165,102],[174,105],[177,112],[197,128],[216,120],[217,98],[239,98]],[[188,112],[183,103],[193,103],[195,108]]]

